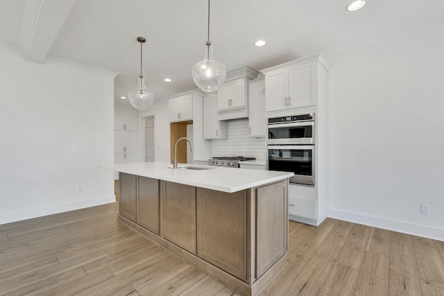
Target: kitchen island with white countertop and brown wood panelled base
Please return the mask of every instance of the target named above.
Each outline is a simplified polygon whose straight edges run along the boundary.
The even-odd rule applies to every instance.
[[[168,162],[117,164],[118,220],[241,295],[287,263],[293,173]]]

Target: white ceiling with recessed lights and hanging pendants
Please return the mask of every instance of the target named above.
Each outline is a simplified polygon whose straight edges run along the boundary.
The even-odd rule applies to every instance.
[[[210,40],[227,70],[261,70],[352,44],[444,26],[443,0],[212,0]],[[125,105],[143,72],[159,100],[196,88],[191,64],[203,60],[207,0],[0,0],[0,51],[42,63],[69,60],[119,73],[114,103]],[[263,47],[256,40],[266,40]],[[164,82],[164,78],[172,82]]]

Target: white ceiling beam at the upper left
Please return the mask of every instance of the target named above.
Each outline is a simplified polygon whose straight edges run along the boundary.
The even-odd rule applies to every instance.
[[[42,63],[77,0],[27,0],[19,37],[24,59]]]

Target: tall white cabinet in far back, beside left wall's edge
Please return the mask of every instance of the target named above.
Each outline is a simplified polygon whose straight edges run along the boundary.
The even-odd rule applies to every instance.
[[[137,162],[137,110],[114,108],[114,164]],[[119,174],[114,173],[114,179]]]

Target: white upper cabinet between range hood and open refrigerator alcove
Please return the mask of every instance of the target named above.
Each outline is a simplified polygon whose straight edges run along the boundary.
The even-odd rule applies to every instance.
[[[203,98],[203,139],[228,139],[228,121],[219,121],[217,105],[216,94]]]

